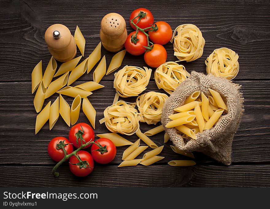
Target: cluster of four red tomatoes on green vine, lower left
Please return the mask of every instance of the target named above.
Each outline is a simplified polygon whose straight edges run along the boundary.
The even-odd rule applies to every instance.
[[[106,164],[115,158],[114,143],[107,138],[100,138],[94,142],[94,131],[87,123],[78,123],[71,127],[68,138],[69,140],[62,136],[53,138],[48,144],[48,154],[56,162],[64,162],[70,157],[69,169],[76,176],[89,175],[93,171],[94,160],[97,163]],[[80,150],[91,145],[92,155]],[[73,146],[78,149],[73,151]]]

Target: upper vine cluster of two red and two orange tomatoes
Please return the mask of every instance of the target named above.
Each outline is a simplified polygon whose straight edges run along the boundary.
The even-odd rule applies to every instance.
[[[172,38],[171,26],[164,21],[154,23],[151,11],[145,8],[134,10],[129,17],[129,23],[136,31],[127,36],[125,49],[133,55],[145,53],[144,60],[151,67],[158,67],[166,62],[167,51],[162,45]],[[149,39],[153,43],[149,42]]]

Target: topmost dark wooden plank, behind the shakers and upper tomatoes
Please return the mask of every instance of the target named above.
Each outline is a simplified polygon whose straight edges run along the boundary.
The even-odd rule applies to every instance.
[[[86,38],[85,58],[100,42],[99,30],[102,17],[110,12],[122,14],[126,22],[133,7],[131,1],[99,2],[80,1],[78,6],[68,0],[51,1],[12,1],[2,2],[1,37],[0,37],[0,82],[30,81],[31,71],[42,59],[43,70],[50,59],[50,54],[44,42],[46,28],[54,23],[66,25],[74,34],[78,25]],[[104,5],[109,6],[108,8]],[[121,5],[121,7],[119,7]],[[223,1],[181,2],[166,1],[152,6],[152,1],[141,2],[140,6],[149,8],[156,21],[167,21],[172,29],[183,23],[197,25],[206,40],[203,56],[194,62],[183,62],[186,69],[205,72],[204,61],[216,48],[228,47],[239,54],[240,71],[237,79],[269,79],[265,70],[270,64],[270,15],[268,2],[257,4],[253,1],[224,4]],[[181,10],[179,10],[181,8]],[[222,10],[220,9],[222,8]],[[160,13],[160,11],[163,11]],[[250,21],[252,20],[252,21]],[[132,29],[127,23],[127,30]],[[168,52],[167,61],[175,61],[173,46],[165,45]],[[110,53],[102,47],[102,55],[106,55],[107,66],[115,53]],[[78,56],[80,55],[78,50]],[[122,67],[132,64],[146,66],[143,55],[126,54]],[[60,63],[59,63],[60,65]],[[7,67],[8,66],[8,67]],[[92,78],[92,72],[90,76]],[[110,74],[104,79],[112,79]],[[83,76],[80,80],[87,80]]]

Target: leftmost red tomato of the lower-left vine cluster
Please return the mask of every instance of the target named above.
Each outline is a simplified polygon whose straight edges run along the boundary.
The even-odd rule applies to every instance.
[[[68,139],[62,136],[53,138],[48,144],[48,154],[56,162],[59,162],[65,156],[61,146],[64,146],[67,155],[73,152],[73,146]]]

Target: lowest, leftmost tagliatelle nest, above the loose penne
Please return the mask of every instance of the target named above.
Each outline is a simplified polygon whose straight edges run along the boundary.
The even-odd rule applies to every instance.
[[[125,135],[133,135],[139,130],[141,114],[135,109],[134,104],[127,104],[119,100],[104,110],[104,118],[99,122],[104,123],[111,132]]]

